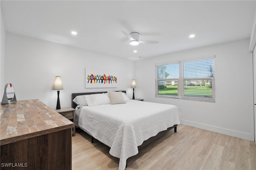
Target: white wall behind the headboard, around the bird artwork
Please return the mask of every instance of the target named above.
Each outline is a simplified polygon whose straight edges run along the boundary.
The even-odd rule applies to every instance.
[[[134,79],[135,61],[74,48],[49,41],[6,33],[5,82],[14,85],[17,100],[39,99],[56,108],[55,76],[61,76],[60,106],[71,106],[71,93],[127,90]],[[85,68],[115,70],[117,88],[85,88]]]

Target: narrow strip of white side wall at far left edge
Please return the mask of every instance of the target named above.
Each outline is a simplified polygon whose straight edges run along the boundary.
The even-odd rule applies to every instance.
[[[4,94],[4,60],[5,60],[5,39],[6,39],[6,29],[4,25],[4,18],[2,14],[2,10],[0,7],[0,101],[2,101],[2,97]]]

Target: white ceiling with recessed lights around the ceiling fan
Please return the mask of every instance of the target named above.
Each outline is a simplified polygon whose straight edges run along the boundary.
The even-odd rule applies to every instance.
[[[1,0],[1,8],[8,32],[137,60],[249,38],[255,2]],[[128,45],[121,31],[160,43]]]

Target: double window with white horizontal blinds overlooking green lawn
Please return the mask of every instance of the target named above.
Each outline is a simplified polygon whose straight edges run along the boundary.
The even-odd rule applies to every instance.
[[[157,65],[156,97],[214,102],[214,58]]]

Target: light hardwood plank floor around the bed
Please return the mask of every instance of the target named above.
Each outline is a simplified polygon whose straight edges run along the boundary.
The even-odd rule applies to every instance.
[[[110,148],[78,129],[72,137],[72,170],[118,170]],[[178,125],[128,158],[126,170],[256,170],[253,141]]]

